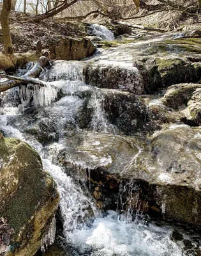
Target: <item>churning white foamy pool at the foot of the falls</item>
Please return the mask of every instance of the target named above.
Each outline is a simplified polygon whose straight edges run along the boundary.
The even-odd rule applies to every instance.
[[[126,223],[119,220],[116,212],[108,211],[106,218],[96,218],[93,227],[75,230],[73,243],[76,248],[80,248],[78,255],[185,255],[182,252],[182,242],[175,243],[170,239],[172,231],[167,226]]]

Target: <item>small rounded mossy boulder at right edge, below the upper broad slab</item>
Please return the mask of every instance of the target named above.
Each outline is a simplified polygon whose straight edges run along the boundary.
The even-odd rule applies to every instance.
[[[201,84],[174,84],[168,87],[167,92],[165,92],[163,104],[175,110],[186,108],[197,88],[201,88]]]

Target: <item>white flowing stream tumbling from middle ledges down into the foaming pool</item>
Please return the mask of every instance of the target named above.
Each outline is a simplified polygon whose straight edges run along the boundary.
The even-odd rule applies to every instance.
[[[98,28],[94,26],[94,29]],[[91,95],[88,106],[93,111],[88,131],[115,134],[117,127],[111,125],[106,118],[100,90],[84,83],[82,63],[57,61],[57,64],[50,71],[45,71],[41,77],[47,82],[46,88],[36,88],[33,91],[24,87],[4,93],[0,131],[6,137],[19,138],[34,147],[43,160],[44,169],[56,180],[61,198],[60,211],[66,255],[198,255],[199,245],[196,238],[193,240],[190,232],[184,232],[164,222],[151,221],[140,214],[133,220],[129,213],[121,215],[110,210],[103,214],[98,211],[87,186],[79,186],[68,176],[56,163],[54,154],[66,147],[66,136],[82,132],[77,116],[85,103],[83,95],[87,93]],[[29,111],[35,111],[34,115],[33,112],[29,114]],[[52,134],[48,132],[48,136],[52,137],[51,142],[47,144],[39,142],[37,136],[27,132],[30,124],[36,125],[38,132],[44,129],[40,127],[41,123],[37,123],[39,121],[54,127]],[[100,161],[106,160],[103,157]],[[69,161],[75,163],[75,159]],[[79,159],[76,161],[78,163]],[[88,167],[82,162],[77,165]],[[50,233],[50,236],[53,235]],[[52,243],[50,237],[47,239]]]

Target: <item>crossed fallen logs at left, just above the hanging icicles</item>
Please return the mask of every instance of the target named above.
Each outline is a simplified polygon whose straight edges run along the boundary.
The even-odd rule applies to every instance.
[[[40,74],[41,70],[43,70],[43,67],[45,67],[45,65],[47,65],[48,63],[48,58],[45,56],[41,56],[38,60],[38,62],[34,65],[33,68],[31,68],[31,70],[29,70],[26,74],[24,74],[24,76],[21,77],[16,77],[16,76],[8,76],[6,74],[1,74],[0,73],[0,77],[5,77],[8,78],[7,81],[3,81],[2,83],[0,83],[0,92],[4,92],[10,88],[19,86],[19,84],[24,83],[24,84],[38,84],[40,86],[44,86],[45,83],[43,83],[42,81],[33,79],[33,77],[37,77],[38,74]]]

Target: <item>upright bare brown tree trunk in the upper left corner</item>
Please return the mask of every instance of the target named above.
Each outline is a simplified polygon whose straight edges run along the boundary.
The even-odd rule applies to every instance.
[[[4,42],[4,54],[13,53],[13,45],[10,35],[10,26],[9,26],[9,15],[11,10],[11,0],[3,0],[3,8],[1,11],[1,28],[3,33],[3,42]]]

